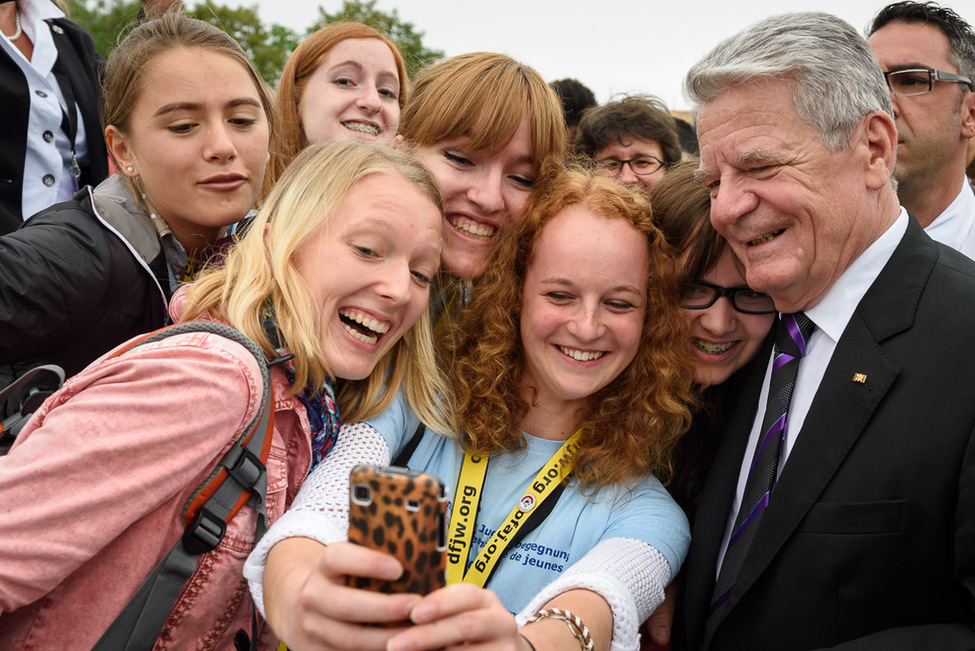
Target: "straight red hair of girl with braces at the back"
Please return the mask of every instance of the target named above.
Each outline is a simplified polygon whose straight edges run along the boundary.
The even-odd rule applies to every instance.
[[[406,104],[409,80],[406,76],[403,56],[396,44],[381,32],[362,23],[334,23],[309,34],[291,53],[287,63],[284,64],[284,70],[281,71],[281,80],[274,95],[279,128],[275,146],[271,150],[271,160],[268,161],[267,173],[264,175],[261,196],[270,193],[274,182],[284,172],[284,168],[308,145],[305,130],[301,127],[301,116],[298,114],[298,104],[305,94],[308,80],[322,65],[332,48],[350,38],[375,38],[389,47],[399,76],[400,92],[397,101],[400,109],[402,110]]]

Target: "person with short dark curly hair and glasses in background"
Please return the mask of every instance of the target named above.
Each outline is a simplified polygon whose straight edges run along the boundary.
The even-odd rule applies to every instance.
[[[677,125],[663,102],[630,95],[589,109],[579,122],[576,151],[605,176],[649,188],[681,160]]]

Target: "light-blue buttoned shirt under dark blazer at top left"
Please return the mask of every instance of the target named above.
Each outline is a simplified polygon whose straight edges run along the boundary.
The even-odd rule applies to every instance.
[[[70,199],[78,190],[78,179],[71,173],[71,143],[61,129],[67,103],[54,76],[58,50],[51,27],[44,22],[50,18],[63,18],[64,14],[48,0],[20,0],[17,5],[24,33],[34,44],[31,60],[28,61],[7,38],[0,38],[0,48],[20,66],[30,89],[21,199],[22,214],[27,219],[51,204]],[[71,110],[75,112],[78,125],[75,155],[83,165],[88,160],[85,125],[77,104]]]

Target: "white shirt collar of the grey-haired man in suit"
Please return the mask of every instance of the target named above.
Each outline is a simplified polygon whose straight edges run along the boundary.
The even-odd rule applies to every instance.
[[[901,208],[897,219],[884,234],[847,267],[819,303],[805,311],[806,316],[833,342],[839,341],[860,300],[894,254],[894,249],[907,232],[908,219],[907,210]]]

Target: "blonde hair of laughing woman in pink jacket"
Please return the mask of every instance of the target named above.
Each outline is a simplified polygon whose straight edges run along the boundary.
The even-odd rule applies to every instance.
[[[443,212],[433,176],[407,154],[359,142],[311,145],[285,170],[247,234],[222,263],[204,270],[187,287],[183,320],[207,313],[246,334],[270,356],[274,350],[262,323],[270,305],[282,343],[295,356],[292,393],[333,377],[294,257],[336,218],[348,191],[371,174],[402,177]],[[369,377],[336,387],[343,421],[380,413],[401,387],[424,422],[442,426],[436,403],[445,393],[445,383],[437,370],[428,311],[379,360]]]

